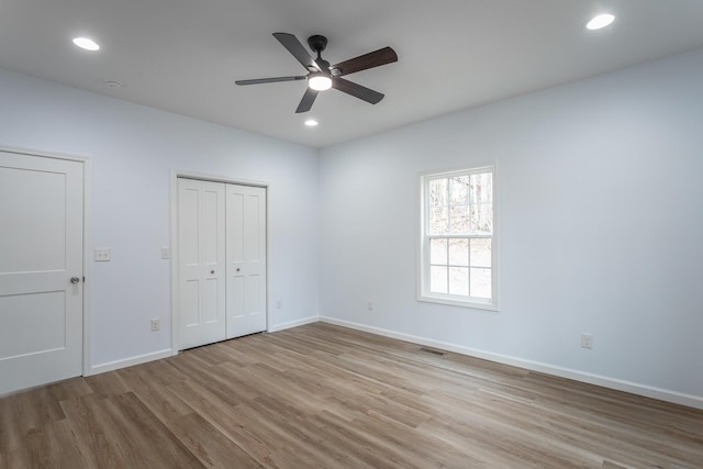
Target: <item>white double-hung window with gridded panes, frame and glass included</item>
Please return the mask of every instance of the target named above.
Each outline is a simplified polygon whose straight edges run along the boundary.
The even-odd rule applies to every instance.
[[[495,169],[421,177],[420,301],[496,310]]]

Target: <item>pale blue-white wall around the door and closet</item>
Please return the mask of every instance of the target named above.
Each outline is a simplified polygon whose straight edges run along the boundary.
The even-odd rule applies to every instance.
[[[271,326],[317,316],[317,150],[3,70],[0,103],[0,145],[92,160],[92,245],[112,248],[88,279],[93,367],[171,347],[171,168],[270,183]]]

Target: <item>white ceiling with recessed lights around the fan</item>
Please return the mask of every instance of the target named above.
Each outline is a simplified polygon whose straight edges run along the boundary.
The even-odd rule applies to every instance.
[[[602,11],[615,23],[587,31]],[[393,47],[346,77],[386,98],[295,114],[304,81],[235,86],[305,74],[274,32],[327,36],[332,64]],[[0,0],[0,68],[313,147],[701,46],[702,0]]]

